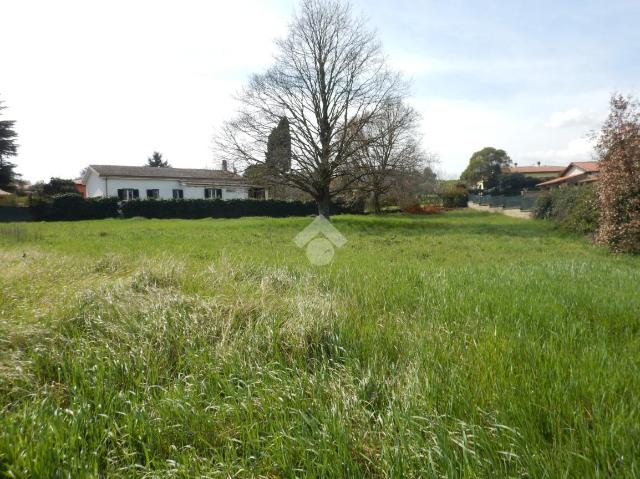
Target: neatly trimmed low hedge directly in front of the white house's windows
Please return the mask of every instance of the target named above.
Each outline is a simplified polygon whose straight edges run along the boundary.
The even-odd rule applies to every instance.
[[[241,218],[243,216],[308,216],[318,208],[312,201],[282,200],[134,200],[122,203],[122,216],[133,218]],[[336,203],[333,214],[361,213]]]

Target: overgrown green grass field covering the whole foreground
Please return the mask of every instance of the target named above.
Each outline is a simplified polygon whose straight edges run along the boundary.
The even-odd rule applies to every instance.
[[[309,222],[0,225],[0,477],[640,475],[640,257]]]

